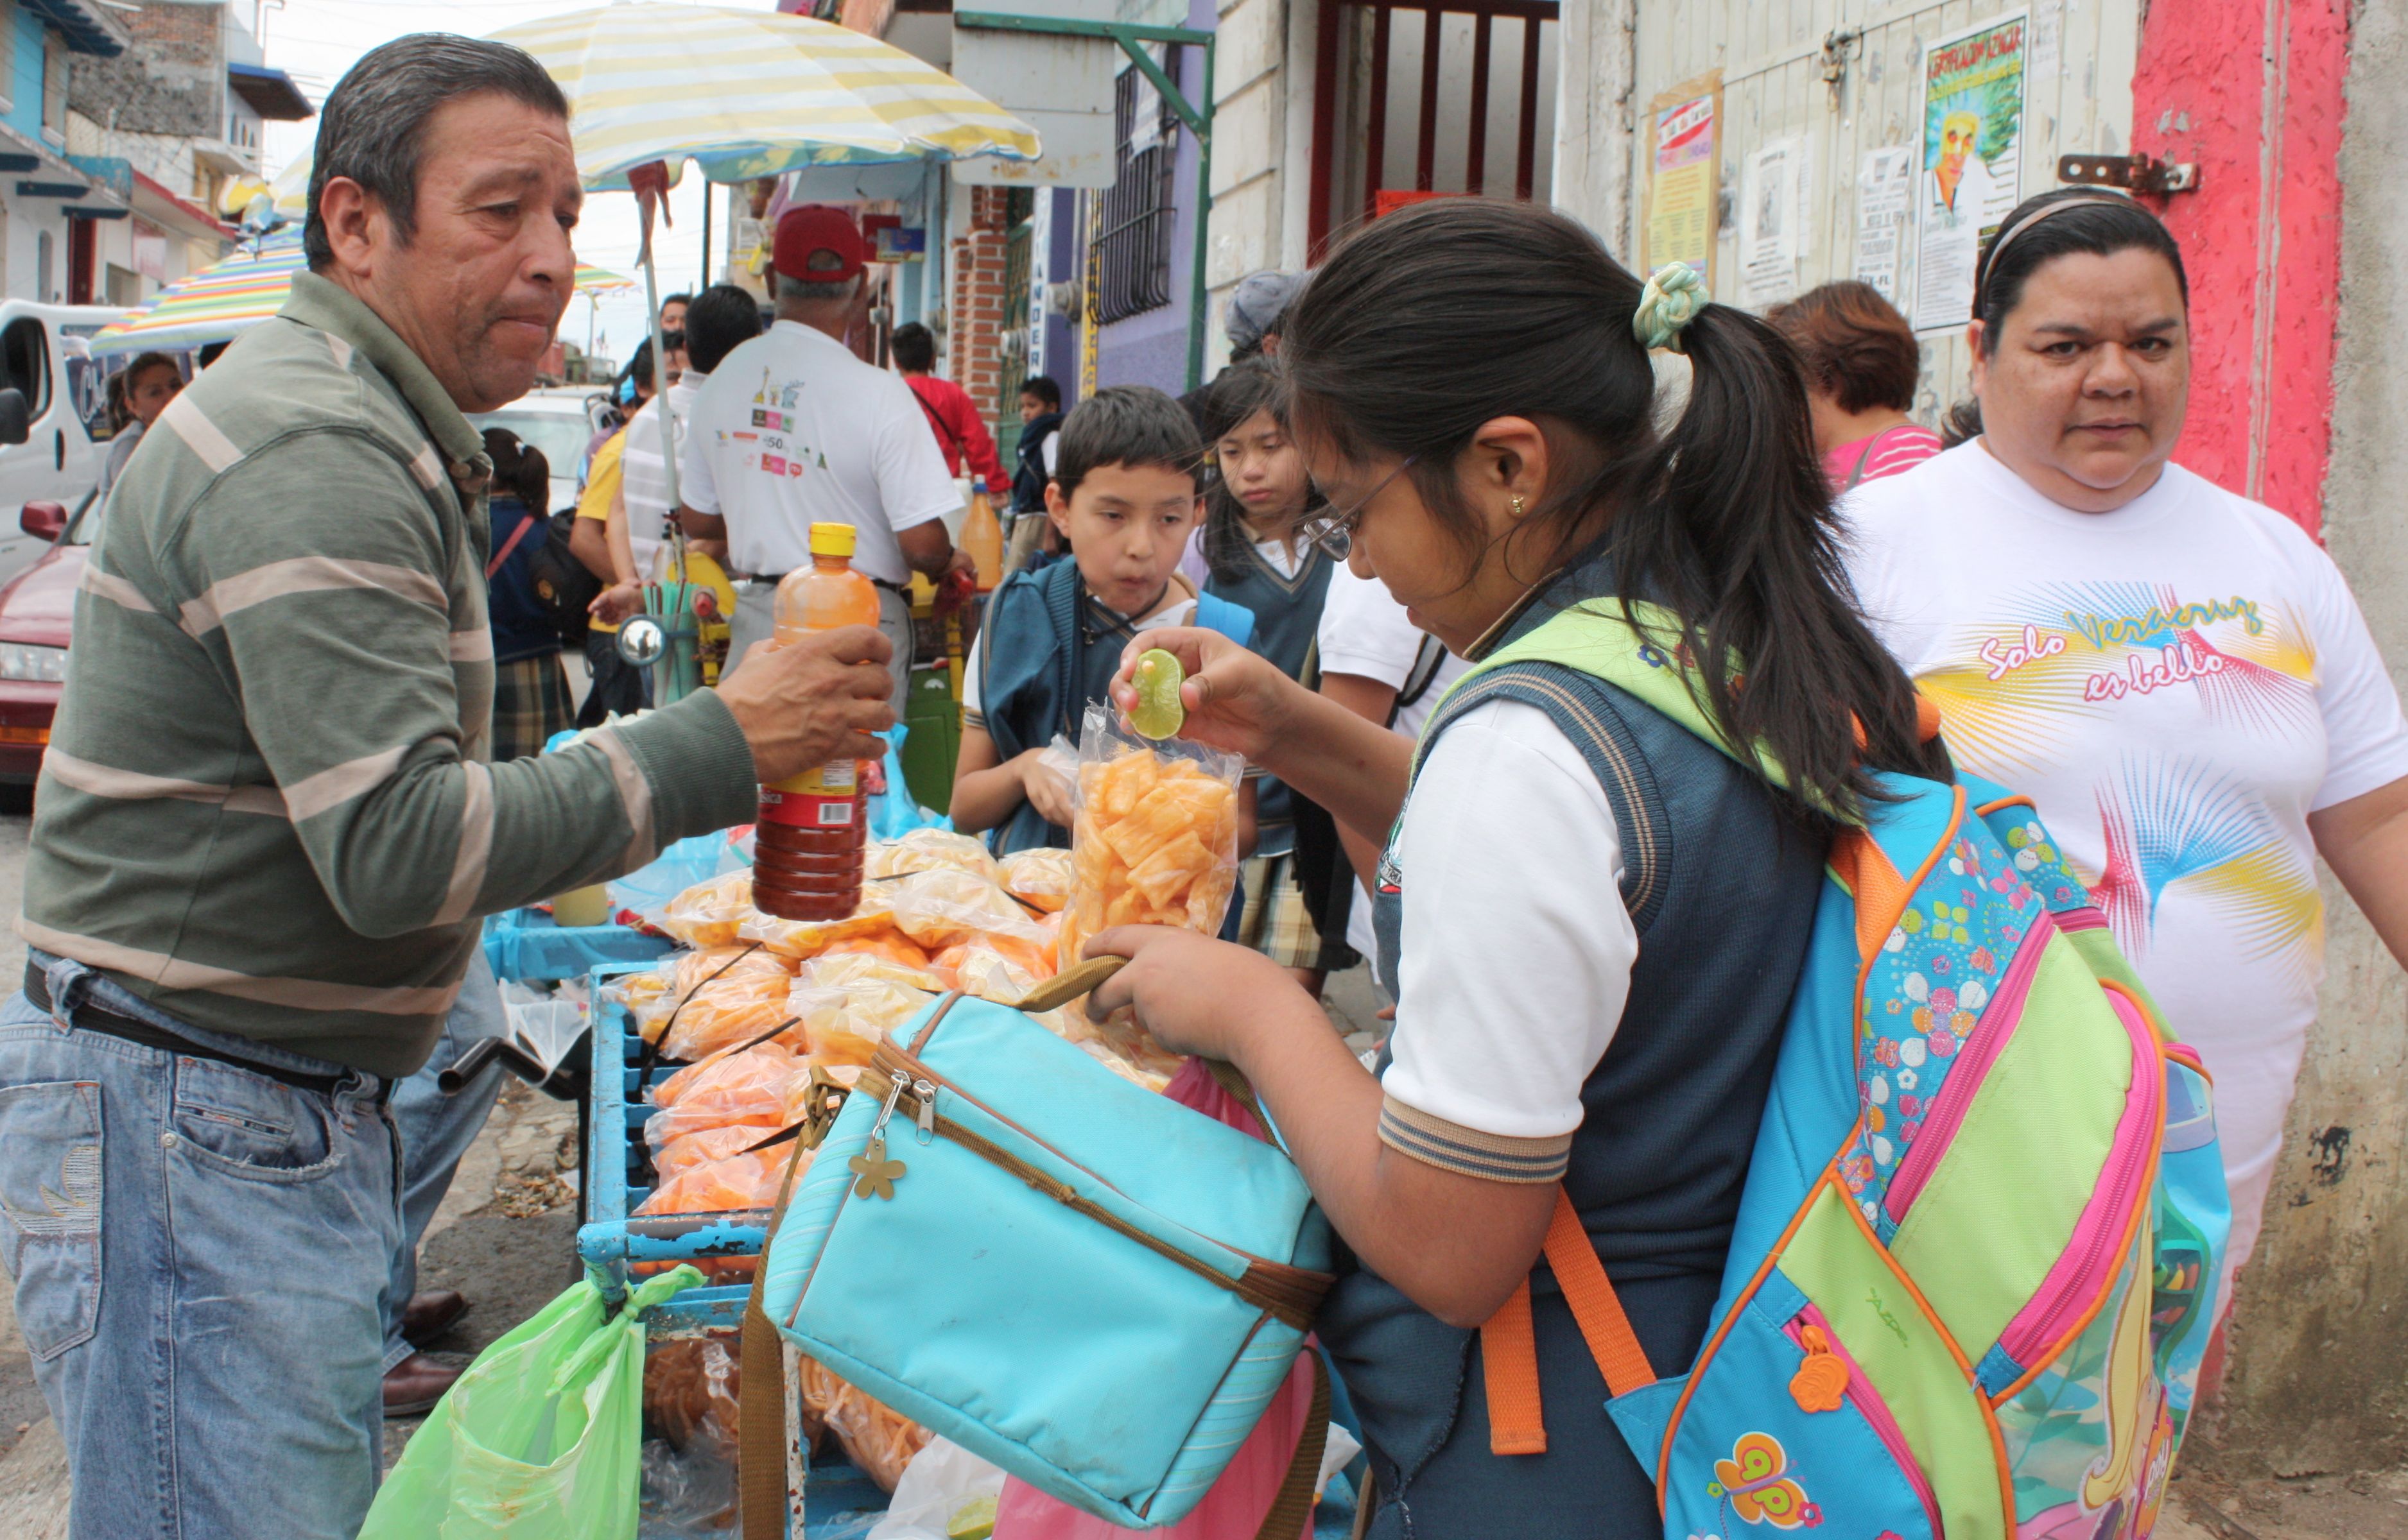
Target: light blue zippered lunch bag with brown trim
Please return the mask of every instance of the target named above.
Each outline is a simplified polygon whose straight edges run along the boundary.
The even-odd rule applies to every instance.
[[[795,1184],[759,1299],[889,1408],[1098,1518],[1158,1528],[1296,1367],[1332,1283],[1329,1225],[1279,1145],[1023,1015],[1105,962],[1021,1008],[946,996],[881,1044]],[[1324,1420],[1274,1504],[1286,1535]]]

